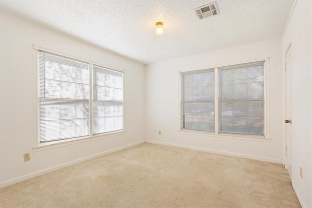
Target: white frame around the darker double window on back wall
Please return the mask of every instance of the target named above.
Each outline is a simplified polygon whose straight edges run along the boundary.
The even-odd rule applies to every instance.
[[[254,135],[254,134],[243,134],[243,133],[231,133],[231,132],[219,132],[219,71],[218,68],[226,67],[231,65],[238,65],[250,62],[264,61],[264,135]],[[183,118],[182,118],[182,81],[181,73],[188,73],[197,70],[211,69],[215,68],[215,132],[198,131],[198,130],[187,130],[182,128]],[[252,60],[242,60],[230,63],[215,63],[214,65],[203,65],[202,67],[193,69],[178,70],[178,132],[196,135],[213,136],[220,138],[230,138],[230,139],[244,139],[253,141],[269,141],[270,129],[269,129],[269,57],[255,58]]]

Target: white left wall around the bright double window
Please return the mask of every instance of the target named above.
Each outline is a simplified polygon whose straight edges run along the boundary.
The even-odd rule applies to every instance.
[[[144,142],[144,65],[4,14],[1,14],[0,22],[1,186],[73,164],[73,161],[79,162],[92,155]],[[124,70],[126,132],[117,136],[34,151],[32,44]],[[30,152],[30,161],[24,162],[25,152]]]

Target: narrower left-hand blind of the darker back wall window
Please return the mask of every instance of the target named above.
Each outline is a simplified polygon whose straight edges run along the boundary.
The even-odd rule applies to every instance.
[[[214,69],[181,73],[182,128],[215,131]]]

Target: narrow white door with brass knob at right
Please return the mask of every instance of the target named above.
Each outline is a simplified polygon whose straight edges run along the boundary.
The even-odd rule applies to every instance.
[[[292,179],[292,45],[285,54],[286,70],[286,168]]]

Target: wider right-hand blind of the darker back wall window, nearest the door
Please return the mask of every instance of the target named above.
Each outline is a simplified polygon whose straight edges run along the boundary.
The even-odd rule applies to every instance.
[[[218,70],[219,132],[264,135],[264,62]]]

